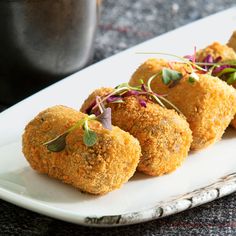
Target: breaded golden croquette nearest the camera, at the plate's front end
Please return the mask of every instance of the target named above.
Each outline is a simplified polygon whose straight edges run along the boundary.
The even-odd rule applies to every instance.
[[[66,137],[61,152],[47,149],[45,142],[65,132],[86,115],[64,106],[39,113],[25,128],[23,153],[33,169],[92,194],[120,188],[134,174],[141,148],[136,138],[118,127],[107,130],[98,121],[89,122],[97,143],[83,143],[83,129]]]

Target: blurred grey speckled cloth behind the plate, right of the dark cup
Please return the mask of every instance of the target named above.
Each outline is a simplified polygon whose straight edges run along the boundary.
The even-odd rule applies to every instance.
[[[234,4],[234,0],[103,0],[94,61]],[[224,26],[215,27],[220,34]]]

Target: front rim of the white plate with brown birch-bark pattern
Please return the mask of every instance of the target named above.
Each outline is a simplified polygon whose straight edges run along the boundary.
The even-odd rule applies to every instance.
[[[41,201],[30,199],[1,187],[0,199],[27,210],[70,223],[89,227],[117,227],[164,218],[222,198],[234,192],[236,192],[236,172],[225,175],[205,187],[174,196],[168,201],[157,202],[157,204],[151,208],[124,214],[91,217],[48,206]]]

